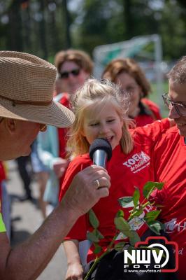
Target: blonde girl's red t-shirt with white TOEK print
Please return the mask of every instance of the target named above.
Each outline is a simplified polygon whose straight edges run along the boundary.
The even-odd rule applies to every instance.
[[[111,178],[110,195],[101,198],[99,202],[92,208],[99,219],[99,230],[104,236],[101,239],[100,245],[106,248],[115,235],[114,218],[115,214],[121,209],[118,203],[118,198],[124,196],[131,196],[134,193],[134,186],[138,187],[141,192],[141,200],[143,200],[142,189],[147,181],[154,181],[154,166],[150,161],[150,154],[152,148],[155,146],[159,134],[169,128],[169,121],[157,121],[152,125],[145,127],[138,127],[131,133],[134,137],[134,149],[128,155],[122,153],[120,145],[113,150],[113,156],[107,163],[108,174]],[[69,165],[62,185],[62,190],[59,195],[59,200],[62,200],[64,193],[69,188],[69,185],[80,170],[85,169],[92,165],[92,160],[88,154],[78,156]],[[151,208],[152,209],[152,208]],[[149,207],[145,211],[150,211]],[[124,218],[128,218],[129,209],[124,210]],[[144,216],[145,213],[141,214]],[[140,216],[140,217],[141,217]],[[136,229],[141,236],[147,229],[146,225],[142,222],[136,222]],[[134,226],[134,224],[132,223]],[[87,215],[81,216],[72,230],[66,236],[66,239],[78,239],[79,241],[86,239],[87,231],[92,231],[92,227],[88,221]],[[94,259],[93,248],[88,252],[87,261]]]

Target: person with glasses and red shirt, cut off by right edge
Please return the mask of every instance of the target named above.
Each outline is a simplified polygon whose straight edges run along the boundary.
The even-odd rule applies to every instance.
[[[185,279],[186,258],[186,56],[168,74],[169,92],[163,95],[169,118],[176,126],[162,134],[155,146],[156,181],[165,182],[161,191],[154,193],[162,204],[159,218],[166,226],[171,240],[178,242],[179,280]]]

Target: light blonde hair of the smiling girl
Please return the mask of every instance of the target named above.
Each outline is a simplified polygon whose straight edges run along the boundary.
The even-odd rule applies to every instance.
[[[90,144],[81,133],[85,110],[94,110],[94,106],[101,106],[101,109],[103,109],[106,102],[112,103],[118,116],[124,120],[122,139],[120,140],[122,151],[127,154],[132,150],[133,139],[127,126],[127,121],[129,121],[129,118],[127,118],[128,97],[123,96],[119,85],[115,85],[109,80],[89,79],[71,96],[71,106],[76,118],[69,130],[69,140],[67,142],[69,155],[83,155],[89,151]]]

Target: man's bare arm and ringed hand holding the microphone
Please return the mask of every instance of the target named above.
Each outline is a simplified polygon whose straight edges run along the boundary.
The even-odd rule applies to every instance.
[[[96,179],[103,188],[96,189]],[[76,220],[101,197],[108,196],[109,187],[110,176],[105,169],[87,167],[74,176],[62,202],[27,241],[11,249],[6,234],[0,233],[0,279],[36,279]]]

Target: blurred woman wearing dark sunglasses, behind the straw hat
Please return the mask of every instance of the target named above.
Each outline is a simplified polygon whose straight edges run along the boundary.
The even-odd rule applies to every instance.
[[[69,97],[78,90],[90,77],[93,62],[86,52],[81,50],[62,50],[55,55],[57,80],[55,101],[69,107]],[[46,210],[48,215],[57,205],[59,181],[69,162],[66,160],[66,129],[48,126],[44,134],[38,135],[38,156],[50,170],[43,199],[49,202]],[[51,207],[52,206],[52,207]]]

